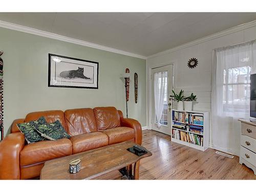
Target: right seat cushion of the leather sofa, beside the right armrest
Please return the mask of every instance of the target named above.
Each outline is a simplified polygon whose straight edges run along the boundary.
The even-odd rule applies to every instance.
[[[135,138],[135,131],[130,127],[120,126],[108,130],[101,131],[108,135],[109,144],[120,143],[123,141],[129,141]]]

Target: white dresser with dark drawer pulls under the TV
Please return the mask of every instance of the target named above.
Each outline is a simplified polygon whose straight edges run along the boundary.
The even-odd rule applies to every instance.
[[[239,163],[251,168],[256,175],[256,122],[240,119],[241,139]]]

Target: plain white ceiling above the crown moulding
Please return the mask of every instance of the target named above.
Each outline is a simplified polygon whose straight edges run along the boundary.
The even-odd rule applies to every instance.
[[[0,13],[0,20],[150,56],[256,20],[256,13]]]

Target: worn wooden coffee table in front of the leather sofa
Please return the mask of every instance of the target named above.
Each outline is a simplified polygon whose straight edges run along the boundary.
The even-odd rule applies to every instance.
[[[152,153],[147,151],[139,157],[126,150],[133,145],[134,142],[125,141],[47,161],[41,169],[40,179],[97,179],[114,170],[120,170],[129,179],[139,179],[140,159],[152,156]],[[72,159],[81,160],[81,170],[76,174],[69,173],[69,161]]]

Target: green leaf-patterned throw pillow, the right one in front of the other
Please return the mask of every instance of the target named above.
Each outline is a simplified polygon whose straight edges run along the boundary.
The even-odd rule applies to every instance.
[[[62,138],[70,138],[70,135],[65,131],[59,120],[53,123],[45,123],[36,127],[36,131],[49,140],[57,140]]]

